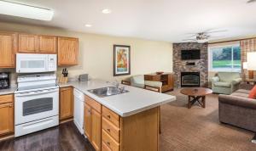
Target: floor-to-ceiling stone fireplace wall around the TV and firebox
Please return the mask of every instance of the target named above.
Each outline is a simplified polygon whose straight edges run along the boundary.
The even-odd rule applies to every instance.
[[[201,59],[183,60],[182,50],[201,50]],[[207,87],[208,83],[208,44],[197,42],[173,43],[173,72],[175,87]],[[190,73],[183,76],[182,73]],[[193,74],[191,74],[193,73]],[[196,73],[196,75],[195,75]],[[199,81],[197,81],[199,79]],[[199,82],[199,84],[198,84]],[[193,86],[192,86],[193,85]]]

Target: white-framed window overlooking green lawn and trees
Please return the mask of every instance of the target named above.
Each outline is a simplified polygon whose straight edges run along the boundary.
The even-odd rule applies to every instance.
[[[210,47],[208,51],[209,70],[241,71],[240,44]]]

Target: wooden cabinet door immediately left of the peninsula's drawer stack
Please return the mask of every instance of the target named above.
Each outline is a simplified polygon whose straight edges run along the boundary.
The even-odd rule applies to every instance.
[[[95,109],[91,109],[91,144],[96,150],[101,150],[102,146],[102,115]]]

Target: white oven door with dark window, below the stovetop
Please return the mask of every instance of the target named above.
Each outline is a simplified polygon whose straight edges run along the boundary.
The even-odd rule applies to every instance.
[[[15,125],[59,115],[59,88],[15,94]]]

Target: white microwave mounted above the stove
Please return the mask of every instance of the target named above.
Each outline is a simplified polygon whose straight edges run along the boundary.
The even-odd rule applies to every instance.
[[[17,53],[16,55],[16,72],[17,73],[46,72],[47,68],[48,68],[47,54]]]

